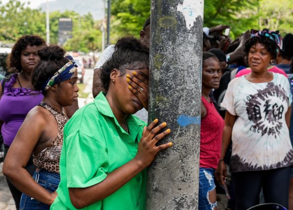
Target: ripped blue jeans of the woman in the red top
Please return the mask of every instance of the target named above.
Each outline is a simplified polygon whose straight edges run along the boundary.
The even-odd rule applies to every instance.
[[[209,191],[216,189],[214,182],[214,169],[199,168],[199,193],[198,210],[213,210],[217,206],[217,201],[209,201]]]

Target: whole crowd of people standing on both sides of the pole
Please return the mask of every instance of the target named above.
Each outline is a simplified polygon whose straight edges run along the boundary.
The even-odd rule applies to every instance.
[[[198,209],[216,210],[223,188],[227,210],[293,210],[293,35],[252,29],[232,41],[225,29],[203,30]],[[79,109],[72,57],[19,38],[8,60],[16,73],[0,82],[3,173],[17,210],[145,209],[146,167],[172,146],[157,146],[167,122],[146,123],[149,46],[148,18],[139,39],[105,49],[95,99]]]

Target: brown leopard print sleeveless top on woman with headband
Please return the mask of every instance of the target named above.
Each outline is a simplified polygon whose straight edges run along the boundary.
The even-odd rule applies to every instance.
[[[68,117],[46,103],[40,103],[38,106],[43,107],[54,115],[58,124],[58,134],[50,146],[42,150],[40,153],[33,154],[33,161],[35,166],[40,169],[44,169],[48,172],[60,173],[59,161],[63,145],[63,128],[65,123],[68,121]]]

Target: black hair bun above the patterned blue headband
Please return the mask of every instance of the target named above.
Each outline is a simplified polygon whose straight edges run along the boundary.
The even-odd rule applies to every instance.
[[[44,46],[38,51],[38,55],[42,60],[60,60],[65,53],[66,51],[57,45]]]

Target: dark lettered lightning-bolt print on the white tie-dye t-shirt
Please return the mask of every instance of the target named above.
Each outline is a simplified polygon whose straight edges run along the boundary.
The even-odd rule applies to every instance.
[[[248,119],[253,122],[250,132],[264,135],[272,135],[275,138],[280,135],[283,122],[284,106],[281,101],[288,103],[288,96],[281,85],[267,84],[263,90],[257,90],[254,95],[247,95],[246,112]]]

